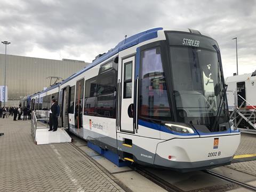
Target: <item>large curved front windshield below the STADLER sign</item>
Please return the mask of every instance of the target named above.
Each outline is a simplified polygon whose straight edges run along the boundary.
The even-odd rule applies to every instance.
[[[190,46],[170,47],[177,119],[182,123],[213,126],[223,93],[218,54]],[[227,102],[218,124],[228,121]]]

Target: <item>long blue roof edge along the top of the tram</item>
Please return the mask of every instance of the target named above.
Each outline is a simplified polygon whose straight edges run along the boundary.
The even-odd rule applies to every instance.
[[[77,77],[78,75],[81,75],[82,73],[84,73],[84,71],[89,70],[90,68],[98,65],[102,61],[107,60],[108,58],[112,57],[119,51],[128,49],[129,47],[137,45],[141,42],[148,41],[149,39],[156,38],[158,30],[163,30],[163,28],[158,27],[158,28],[149,29],[149,30],[142,31],[141,33],[135,34],[131,37],[124,39],[123,41],[119,42],[113,49],[110,49],[107,53],[105,53],[101,57],[95,59],[92,63],[87,65],[81,71],[78,71],[76,74],[73,74],[70,77],[68,77],[67,79],[63,80],[60,84],[64,84],[64,83],[70,81],[71,79]]]

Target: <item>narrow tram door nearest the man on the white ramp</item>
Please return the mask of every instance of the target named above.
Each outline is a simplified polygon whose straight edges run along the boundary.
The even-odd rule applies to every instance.
[[[62,91],[62,113],[61,113],[61,120],[62,120],[62,127],[68,129],[68,109],[70,103],[70,87],[67,86]]]

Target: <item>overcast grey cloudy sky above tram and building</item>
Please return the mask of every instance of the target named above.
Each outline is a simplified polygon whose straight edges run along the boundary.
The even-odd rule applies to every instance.
[[[225,76],[256,70],[256,1],[0,0],[7,53],[91,62],[124,36],[155,27],[197,29],[217,40]],[[0,46],[4,53],[4,45]]]

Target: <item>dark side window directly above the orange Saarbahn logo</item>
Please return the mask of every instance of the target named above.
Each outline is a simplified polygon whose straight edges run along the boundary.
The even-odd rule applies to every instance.
[[[84,115],[95,115],[96,95],[97,77],[93,77],[85,81]]]

